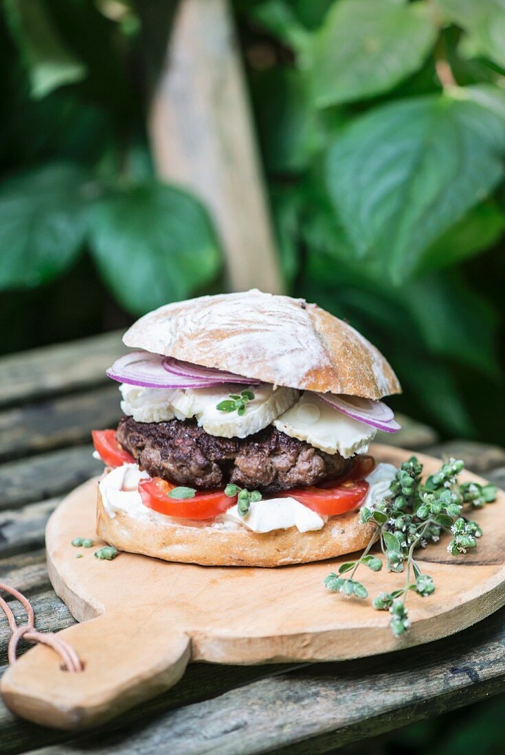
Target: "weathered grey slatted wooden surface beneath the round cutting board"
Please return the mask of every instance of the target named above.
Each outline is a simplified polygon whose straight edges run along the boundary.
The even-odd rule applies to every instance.
[[[0,581],[30,597],[41,630],[74,621],[48,581],[45,522],[60,498],[101,471],[91,458],[89,433],[119,418],[117,387],[104,375],[119,353],[120,336],[111,333],[0,359]],[[394,439],[435,456],[462,457],[469,469],[505,486],[500,448],[437,444],[432,430],[407,421]],[[7,662],[8,636],[2,616],[0,664]],[[327,753],[495,695],[504,680],[502,609],[452,638],[379,658],[194,664],[166,694],[86,735],[26,723],[0,704],[0,752]]]

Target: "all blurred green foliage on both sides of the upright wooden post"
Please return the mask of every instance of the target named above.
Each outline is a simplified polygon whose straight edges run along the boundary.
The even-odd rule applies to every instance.
[[[5,350],[222,285],[205,208],[156,180],[147,146],[175,6],[2,5]],[[386,353],[398,408],[503,442],[503,5],[233,7],[288,288]]]

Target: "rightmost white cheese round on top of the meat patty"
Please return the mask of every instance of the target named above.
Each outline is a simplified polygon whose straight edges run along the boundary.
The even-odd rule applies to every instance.
[[[336,411],[310,391],[273,424],[292,438],[305,440],[327,454],[338,451],[345,459],[366,453],[376,435],[374,427]]]

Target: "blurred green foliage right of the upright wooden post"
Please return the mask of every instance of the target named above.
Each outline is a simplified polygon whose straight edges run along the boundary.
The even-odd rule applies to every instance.
[[[503,5],[236,5],[291,288],[386,353],[404,411],[503,442]]]

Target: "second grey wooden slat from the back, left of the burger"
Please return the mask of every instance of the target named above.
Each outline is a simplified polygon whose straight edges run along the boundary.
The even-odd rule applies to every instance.
[[[91,430],[116,427],[118,385],[49,399],[0,413],[0,461],[89,442]]]

